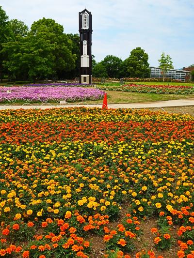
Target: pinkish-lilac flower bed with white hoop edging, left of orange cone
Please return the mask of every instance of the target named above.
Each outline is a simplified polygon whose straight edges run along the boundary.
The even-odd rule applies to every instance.
[[[7,93],[11,91],[11,93]],[[85,101],[101,99],[104,91],[78,87],[9,87],[0,88],[0,102],[23,100],[33,101]]]

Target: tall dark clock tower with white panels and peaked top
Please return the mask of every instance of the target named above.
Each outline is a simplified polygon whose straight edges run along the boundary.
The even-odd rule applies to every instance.
[[[80,83],[92,83],[92,15],[88,10],[79,13]]]

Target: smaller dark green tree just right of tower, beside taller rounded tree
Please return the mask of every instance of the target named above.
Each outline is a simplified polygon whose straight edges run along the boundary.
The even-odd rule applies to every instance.
[[[101,61],[101,64],[106,68],[106,72],[110,78],[119,77],[120,65],[122,63],[121,58],[113,55],[108,55]]]

